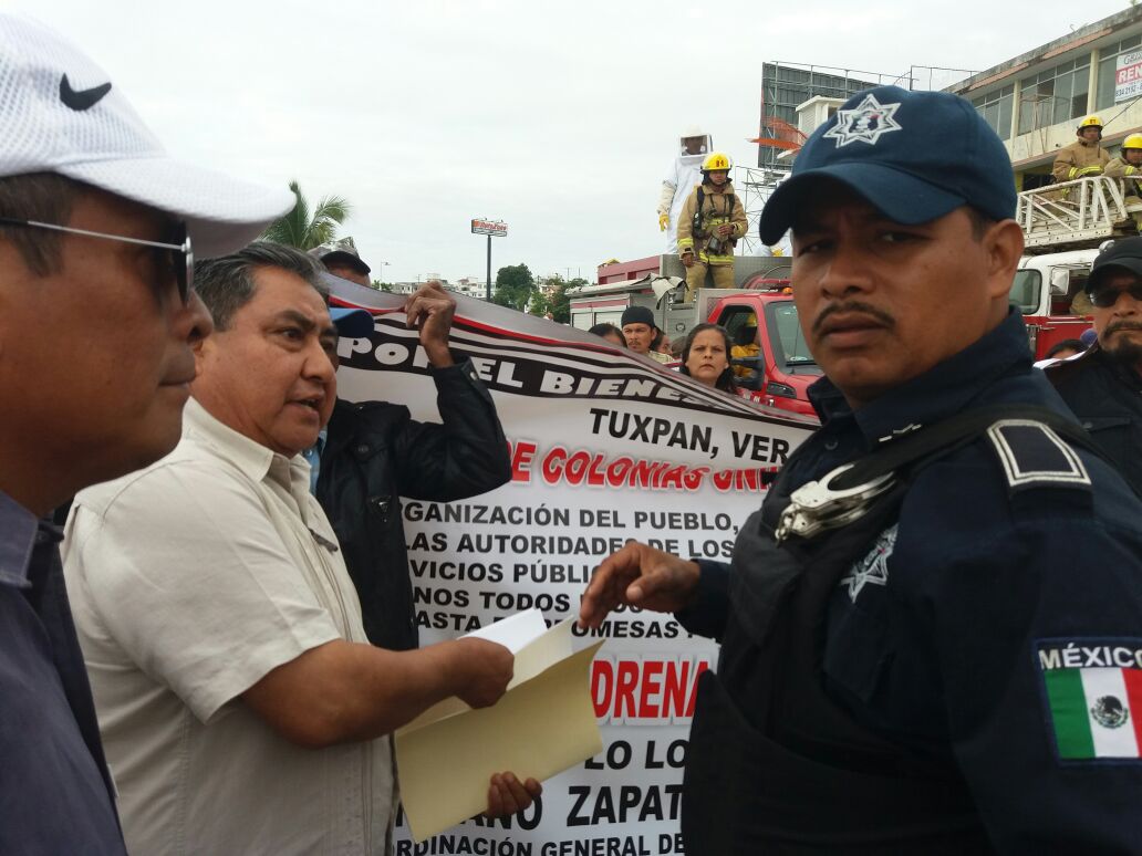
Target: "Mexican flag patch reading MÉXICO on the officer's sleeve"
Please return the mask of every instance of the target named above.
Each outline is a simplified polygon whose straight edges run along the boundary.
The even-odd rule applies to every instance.
[[[1142,757],[1142,639],[1038,643],[1060,760]]]

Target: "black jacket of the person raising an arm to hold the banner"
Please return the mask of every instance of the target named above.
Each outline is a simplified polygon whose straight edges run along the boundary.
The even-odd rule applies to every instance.
[[[338,399],[321,452],[317,500],[337,532],[373,645],[417,647],[401,496],[451,502],[512,477],[491,395],[469,361],[433,371],[443,423],[408,407]]]

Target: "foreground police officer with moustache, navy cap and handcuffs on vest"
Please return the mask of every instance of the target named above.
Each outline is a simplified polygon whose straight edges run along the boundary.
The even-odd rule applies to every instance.
[[[580,611],[722,643],[686,853],[1142,849],[1142,503],[1031,368],[1014,210],[972,106],[895,87],[850,99],[766,205],[821,429],[731,565],[630,542]]]

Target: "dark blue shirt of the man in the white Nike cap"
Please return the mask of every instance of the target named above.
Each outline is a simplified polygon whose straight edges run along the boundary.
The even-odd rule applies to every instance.
[[[0,854],[122,854],[59,539],[0,492]]]

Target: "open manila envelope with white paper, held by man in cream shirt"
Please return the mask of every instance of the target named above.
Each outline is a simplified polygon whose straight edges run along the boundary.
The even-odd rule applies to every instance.
[[[573,653],[572,621],[548,630],[529,609],[472,633],[515,654],[507,693],[480,710],[448,698],[396,732],[401,801],[416,841],[486,809],[493,773],[542,781],[603,750],[589,689],[603,643]]]

